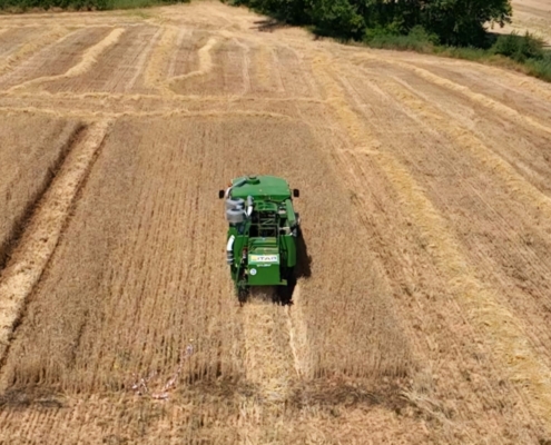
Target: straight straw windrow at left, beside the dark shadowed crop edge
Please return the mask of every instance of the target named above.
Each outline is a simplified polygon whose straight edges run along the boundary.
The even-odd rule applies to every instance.
[[[6,358],[26,301],[58,245],[73,199],[94,165],[109,127],[108,120],[91,125],[68,155],[0,277],[0,364]]]

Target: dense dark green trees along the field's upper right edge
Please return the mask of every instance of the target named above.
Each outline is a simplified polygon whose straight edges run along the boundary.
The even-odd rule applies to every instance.
[[[486,42],[484,24],[511,21],[510,0],[230,0],[278,20],[312,26],[322,36],[368,40],[422,27],[436,43]]]

